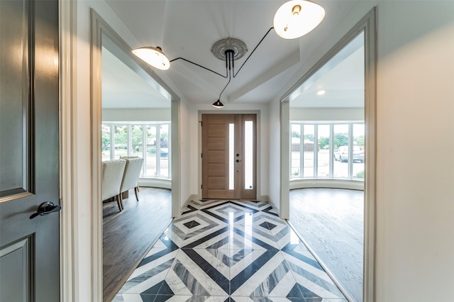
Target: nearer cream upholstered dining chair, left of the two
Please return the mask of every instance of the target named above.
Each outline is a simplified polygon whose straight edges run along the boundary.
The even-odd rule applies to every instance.
[[[126,160],[106,160],[102,162],[102,201],[114,197],[118,204],[118,209],[123,211],[120,198],[121,180],[126,167]]]

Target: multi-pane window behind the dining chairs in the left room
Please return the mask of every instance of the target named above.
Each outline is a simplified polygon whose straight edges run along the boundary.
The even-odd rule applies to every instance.
[[[103,123],[102,160],[123,156],[143,158],[140,177],[170,175],[170,123]]]

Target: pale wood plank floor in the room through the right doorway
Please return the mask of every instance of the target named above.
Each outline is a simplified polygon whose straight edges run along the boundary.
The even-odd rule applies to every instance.
[[[290,191],[289,222],[358,302],[362,301],[363,208],[363,191]]]

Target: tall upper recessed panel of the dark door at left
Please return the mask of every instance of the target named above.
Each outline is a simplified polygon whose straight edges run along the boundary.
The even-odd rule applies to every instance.
[[[1,81],[9,83],[1,87],[2,110],[0,121],[9,125],[0,131],[0,139],[8,144],[0,144],[0,202],[3,197],[31,191],[33,169],[33,57],[35,45],[28,35],[35,30],[33,1],[9,1],[0,4],[1,26],[7,27],[2,40],[8,47],[1,47]],[[6,79],[7,77],[7,79]],[[6,101],[16,100],[18,101]],[[7,199],[11,200],[11,199]]]

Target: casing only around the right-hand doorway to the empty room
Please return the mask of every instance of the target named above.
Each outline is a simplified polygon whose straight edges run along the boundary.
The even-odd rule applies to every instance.
[[[375,301],[375,208],[376,208],[376,106],[377,106],[377,23],[376,7],[353,26],[338,42],[326,52],[316,64],[280,99],[280,215],[289,218],[290,181],[290,118],[289,98],[295,89],[318,71],[333,55],[341,50],[358,33],[365,33],[365,178],[364,178],[364,246],[363,286],[364,302]]]

